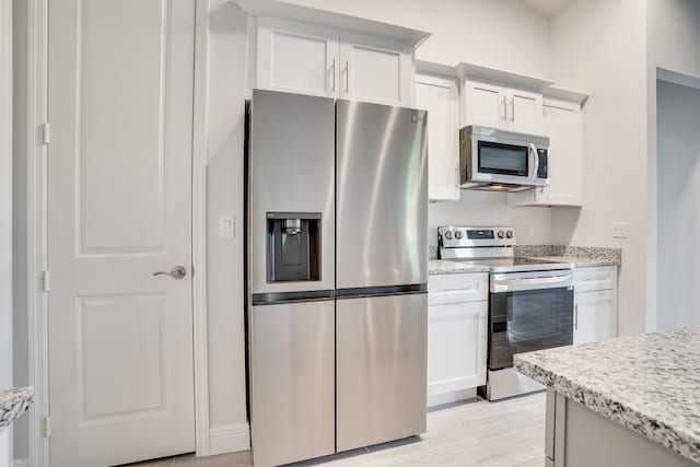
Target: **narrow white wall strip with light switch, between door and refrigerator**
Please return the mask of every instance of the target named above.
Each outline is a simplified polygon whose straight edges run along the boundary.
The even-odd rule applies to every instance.
[[[207,138],[209,422],[214,433],[229,433],[225,442],[215,440],[214,443],[229,443],[231,450],[245,450],[248,447],[243,306],[246,15],[225,0],[213,0],[210,8]],[[220,215],[234,215],[234,240],[219,238]],[[245,435],[235,437],[232,432]]]

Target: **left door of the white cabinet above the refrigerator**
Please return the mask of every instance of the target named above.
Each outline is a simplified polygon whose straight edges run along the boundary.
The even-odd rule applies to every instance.
[[[260,16],[256,86],[335,96],[338,47],[337,30]]]

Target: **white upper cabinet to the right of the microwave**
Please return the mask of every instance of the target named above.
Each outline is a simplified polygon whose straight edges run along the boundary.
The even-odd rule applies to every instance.
[[[516,110],[517,112],[517,110]],[[583,122],[579,104],[544,101],[545,132],[549,136],[549,186],[509,194],[511,206],[582,206]]]

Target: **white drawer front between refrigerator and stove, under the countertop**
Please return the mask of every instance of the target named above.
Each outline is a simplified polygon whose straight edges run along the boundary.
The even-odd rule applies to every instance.
[[[489,275],[468,272],[430,276],[428,279],[428,304],[477,302],[489,297]]]

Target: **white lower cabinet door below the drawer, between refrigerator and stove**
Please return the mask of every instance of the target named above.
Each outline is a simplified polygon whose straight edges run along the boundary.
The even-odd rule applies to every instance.
[[[428,395],[486,384],[488,302],[428,307]]]

